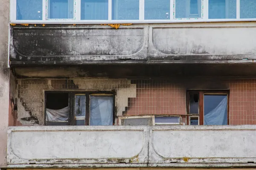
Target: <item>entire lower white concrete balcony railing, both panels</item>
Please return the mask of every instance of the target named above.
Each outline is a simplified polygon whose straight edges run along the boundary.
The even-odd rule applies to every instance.
[[[256,166],[256,126],[9,127],[8,167]]]

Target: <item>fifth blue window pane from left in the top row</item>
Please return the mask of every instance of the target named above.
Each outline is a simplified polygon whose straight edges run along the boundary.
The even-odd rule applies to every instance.
[[[145,20],[169,20],[170,0],[145,0]]]

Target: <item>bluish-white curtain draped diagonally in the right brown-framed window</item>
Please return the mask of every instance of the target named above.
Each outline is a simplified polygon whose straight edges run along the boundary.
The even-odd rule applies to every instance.
[[[227,97],[209,113],[204,113],[204,125],[227,125]]]

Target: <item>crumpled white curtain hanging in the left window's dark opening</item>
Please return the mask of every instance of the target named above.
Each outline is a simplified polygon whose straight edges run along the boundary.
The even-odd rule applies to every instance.
[[[67,121],[68,114],[68,107],[60,110],[46,109],[46,121]]]

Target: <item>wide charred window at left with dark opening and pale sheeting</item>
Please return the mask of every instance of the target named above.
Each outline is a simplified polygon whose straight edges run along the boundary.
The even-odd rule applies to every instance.
[[[113,94],[46,93],[46,125],[113,125]]]

